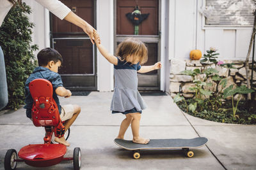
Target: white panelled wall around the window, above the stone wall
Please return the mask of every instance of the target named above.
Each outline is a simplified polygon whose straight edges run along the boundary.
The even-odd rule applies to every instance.
[[[204,27],[204,17],[198,11],[204,1],[170,0],[169,59],[189,59],[191,50],[206,53],[214,46],[219,59],[244,60],[252,27]]]

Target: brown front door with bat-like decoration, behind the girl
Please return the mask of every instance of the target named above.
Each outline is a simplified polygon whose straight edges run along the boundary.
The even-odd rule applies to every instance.
[[[138,5],[142,14],[149,13],[148,17],[139,25],[138,35],[134,35],[134,25],[126,17]],[[115,47],[125,38],[133,37],[143,41],[148,48],[148,62],[145,66],[155,64],[160,60],[160,27],[159,27],[159,0],[116,0],[115,9]],[[139,90],[160,90],[160,71],[138,73]]]

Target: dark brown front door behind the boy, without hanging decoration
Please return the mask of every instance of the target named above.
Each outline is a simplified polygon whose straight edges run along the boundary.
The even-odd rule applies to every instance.
[[[95,0],[62,0],[76,15],[95,27]],[[84,31],[51,15],[52,48],[60,52],[59,73],[63,84],[72,90],[97,90],[95,46]]]

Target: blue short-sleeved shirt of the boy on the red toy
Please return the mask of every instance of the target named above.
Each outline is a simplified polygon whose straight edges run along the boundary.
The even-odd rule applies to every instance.
[[[51,81],[52,87],[53,87],[53,94],[52,97],[56,104],[58,105],[59,113],[61,113],[61,106],[60,101],[58,99],[58,96],[55,92],[57,87],[63,87],[63,83],[61,80],[61,76],[58,73],[55,73],[54,71],[49,70],[47,67],[36,67],[33,73],[29,76],[29,78],[26,80],[25,83],[25,103],[26,105],[24,108],[26,109],[26,115],[28,118],[31,118],[31,108],[33,106],[33,99],[31,97],[30,91],[29,91],[29,83],[36,78],[44,78],[46,80]]]

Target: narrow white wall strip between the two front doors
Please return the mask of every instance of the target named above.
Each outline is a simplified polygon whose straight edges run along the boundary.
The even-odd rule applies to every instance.
[[[113,28],[113,0],[97,1],[97,31],[100,34],[102,45],[110,52],[114,53],[114,28]],[[97,52],[97,78],[98,90],[113,90],[113,64],[110,64],[99,52]]]

